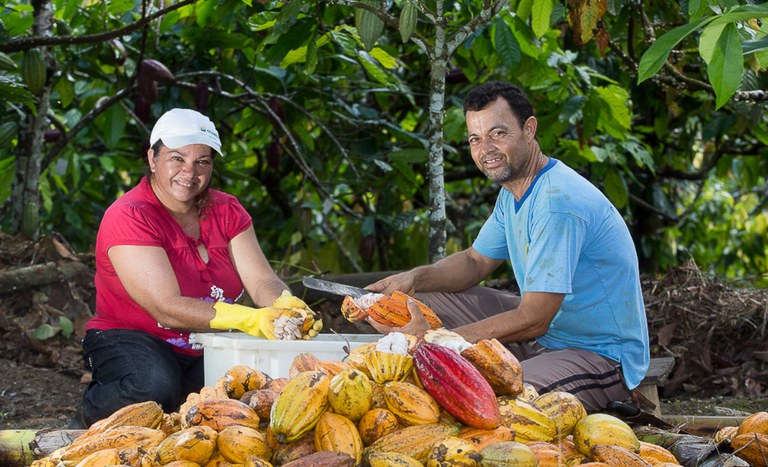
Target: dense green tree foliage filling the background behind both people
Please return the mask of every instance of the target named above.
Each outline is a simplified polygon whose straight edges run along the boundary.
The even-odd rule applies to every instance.
[[[447,30],[472,21],[482,3],[441,3]],[[498,192],[469,156],[461,102],[474,84],[505,79],[531,96],[545,153],[575,167],[621,210],[646,271],[693,257],[713,274],[765,286],[768,117],[765,100],[744,96],[768,89],[768,31],[755,21],[765,21],[768,7],[746,3],[691,0],[683,10],[671,1],[610,1],[604,15],[587,8],[576,18],[595,25],[583,46],[574,45],[571,8],[505,3],[459,44],[446,70],[449,252],[471,245]],[[205,0],[117,41],[51,46],[55,122],[46,129],[63,130],[67,142],[42,148],[41,230],[92,247],[106,207],[141,177],[152,123],[182,106],[219,127],[226,157],[216,161],[215,186],[246,206],[281,274],[426,262],[432,57],[419,44],[438,40],[438,4],[370,4],[392,19],[375,38],[354,26],[355,3]],[[418,22],[404,41],[399,18],[407,4]],[[55,0],[52,10],[54,38],[116,30],[142,15],[141,4],[128,1]],[[31,34],[33,10],[10,0],[1,14],[6,50],[2,44]],[[644,27],[654,28],[650,46]],[[23,52],[6,55],[21,64]],[[141,58],[176,77],[158,85],[144,118]],[[114,96],[122,97],[98,111]],[[18,132],[0,145],[6,211],[20,136],[35,112],[19,68],[0,67],[0,136],[7,122]],[[5,215],[3,222],[8,229]]]

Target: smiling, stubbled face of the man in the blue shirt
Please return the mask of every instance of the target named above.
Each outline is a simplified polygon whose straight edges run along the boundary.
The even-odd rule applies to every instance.
[[[534,118],[521,129],[509,104],[500,97],[482,110],[467,112],[466,121],[472,160],[481,172],[499,184],[525,174],[533,155]]]

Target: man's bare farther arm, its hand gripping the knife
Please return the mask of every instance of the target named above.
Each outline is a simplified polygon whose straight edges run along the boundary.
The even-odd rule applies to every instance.
[[[503,262],[469,247],[434,264],[386,277],[366,288],[386,294],[399,290],[409,295],[415,292],[459,292],[477,285]]]

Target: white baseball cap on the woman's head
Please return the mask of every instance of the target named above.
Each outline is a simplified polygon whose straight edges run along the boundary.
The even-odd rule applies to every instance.
[[[157,140],[163,140],[169,148],[205,144],[221,154],[221,140],[216,126],[208,117],[191,109],[171,109],[164,113],[149,135],[150,146],[154,146]]]

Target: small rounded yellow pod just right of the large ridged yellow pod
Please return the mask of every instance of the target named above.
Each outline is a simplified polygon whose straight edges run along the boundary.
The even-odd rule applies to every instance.
[[[335,413],[360,421],[373,405],[371,380],[360,370],[342,371],[331,379],[328,402]]]

